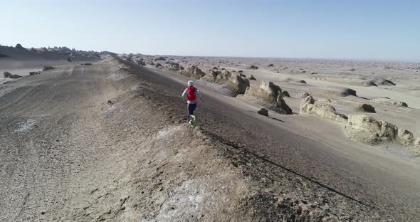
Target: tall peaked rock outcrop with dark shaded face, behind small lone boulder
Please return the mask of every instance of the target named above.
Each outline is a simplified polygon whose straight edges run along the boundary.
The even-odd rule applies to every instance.
[[[263,105],[275,112],[290,115],[293,114],[292,109],[286,104],[281,96],[281,88],[274,83],[263,80],[258,89],[248,88],[246,95],[255,97],[263,102]]]

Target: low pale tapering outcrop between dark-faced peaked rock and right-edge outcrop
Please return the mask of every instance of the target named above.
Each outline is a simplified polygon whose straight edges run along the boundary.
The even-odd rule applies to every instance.
[[[337,112],[334,107],[327,104],[315,104],[315,100],[311,95],[305,97],[300,102],[300,113],[315,114],[328,120],[335,122],[347,122],[347,117],[340,112]]]

